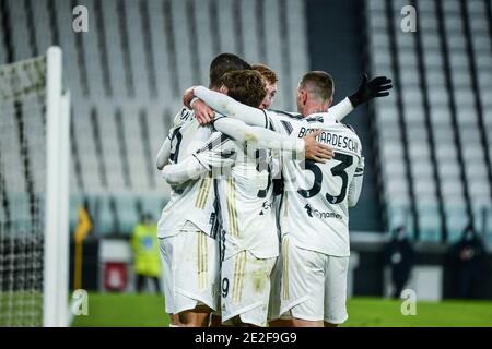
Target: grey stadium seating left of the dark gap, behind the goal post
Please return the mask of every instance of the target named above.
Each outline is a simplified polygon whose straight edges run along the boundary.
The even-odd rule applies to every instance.
[[[72,9],[79,4],[89,10],[89,33],[72,31]],[[208,84],[218,53],[233,51],[272,67],[280,76],[276,108],[295,109],[294,91],[308,70],[304,5],[296,0],[4,0],[5,15],[15,23],[0,25],[0,64],[9,57],[38,56],[50,45],[63,51],[72,99],[71,227],[84,198],[99,234],[129,232],[142,210],[159,218],[169,190],[154,167],[155,155],[183,91]],[[19,171],[5,180],[23,181],[9,178],[22,168],[16,155],[11,157]]]

